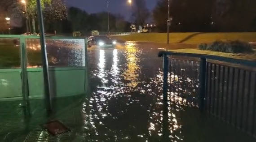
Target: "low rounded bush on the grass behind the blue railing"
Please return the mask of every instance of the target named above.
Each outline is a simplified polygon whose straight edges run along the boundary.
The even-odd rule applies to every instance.
[[[227,53],[249,53],[253,52],[252,46],[248,43],[241,41],[215,41],[211,44],[202,43],[199,44],[200,50],[211,50],[216,52],[227,52]]]

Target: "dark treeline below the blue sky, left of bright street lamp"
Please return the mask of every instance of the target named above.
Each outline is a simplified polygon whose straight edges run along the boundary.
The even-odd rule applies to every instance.
[[[66,20],[45,22],[45,29],[49,33],[72,33],[80,31],[89,34],[92,30],[108,31],[107,12],[88,14],[86,11],[71,7],[68,9]],[[130,30],[130,23],[120,15],[109,13],[110,32],[126,32]]]

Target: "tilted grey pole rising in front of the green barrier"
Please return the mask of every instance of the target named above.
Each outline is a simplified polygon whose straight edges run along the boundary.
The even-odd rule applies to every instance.
[[[45,102],[47,111],[52,111],[52,98],[50,94],[50,86],[49,86],[49,70],[48,70],[48,60],[47,60],[47,52],[45,45],[45,35],[44,35],[44,19],[41,8],[40,0],[36,0],[37,9],[38,9],[38,17],[39,17],[39,25],[40,25],[40,43],[41,43],[41,52],[42,52],[42,62],[43,62],[43,73],[44,73],[44,93],[45,93]]]

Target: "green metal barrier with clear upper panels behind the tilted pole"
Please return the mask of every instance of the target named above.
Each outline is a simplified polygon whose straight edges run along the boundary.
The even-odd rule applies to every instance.
[[[53,97],[87,94],[87,40],[46,37]],[[44,98],[40,37],[0,35],[0,100]]]

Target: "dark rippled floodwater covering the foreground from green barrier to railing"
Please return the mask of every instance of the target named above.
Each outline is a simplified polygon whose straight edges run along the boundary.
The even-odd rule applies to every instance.
[[[0,141],[73,142],[253,142],[255,139],[200,114],[196,98],[198,64],[182,66],[169,74],[174,84],[163,104],[162,47],[126,42],[116,48],[88,49],[90,95],[54,100],[55,110],[31,108],[27,115],[19,102],[0,103]],[[191,96],[189,105],[173,94]],[[174,101],[175,102],[175,101]],[[11,104],[10,104],[11,103]],[[31,105],[42,103],[31,101]],[[5,108],[4,108],[5,107]],[[15,108],[15,109],[14,109]],[[165,113],[165,111],[167,112]],[[69,132],[51,136],[42,128],[60,120]],[[165,123],[163,123],[165,122]]]

